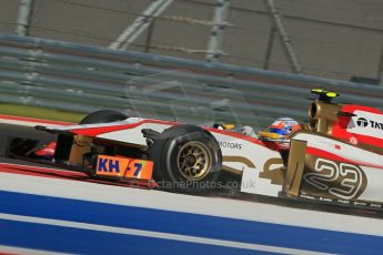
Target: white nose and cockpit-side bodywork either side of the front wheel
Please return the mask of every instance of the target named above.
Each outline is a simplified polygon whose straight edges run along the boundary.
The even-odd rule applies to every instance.
[[[141,133],[142,129],[152,129],[158,132],[163,132],[165,129],[174,124],[178,123],[169,123],[140,118],[129,118],[124,121],[112,123],[71,125],[53,129],[57,131],[75,132],[75,130],[93,128],[102,129],[108,126],[121,125],[124,126],[121,130],[100,133],[97,134],[95,137],[145,146],[147,142]],[[282,190],[282,186],[271,184],[271,181],[268,178],[260,178],[259,174],[260,172],[264,171],[265,163],[271,159],[280,162],[278,164],[273,164],[271,166],[272,169],[283,166],[282,157],[279,152],[268,149],[256,139],[251,139],[238,133],[224,132],[214,129],[209,129],[209,131],[220,143],[223,156],[223,169],[229,167],[235,170],[236,173],[242,175],[242,192],[278,196],[278,193]]]

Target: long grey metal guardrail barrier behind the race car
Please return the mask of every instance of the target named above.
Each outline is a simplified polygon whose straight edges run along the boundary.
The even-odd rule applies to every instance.
[[[0,102],[91,112],[114,109],[185,122],[304,121],[310,89],[383,108],[383,88],[224,63],[0,34]]]

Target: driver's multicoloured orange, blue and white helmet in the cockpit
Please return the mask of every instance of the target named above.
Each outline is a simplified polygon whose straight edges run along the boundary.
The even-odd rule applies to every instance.
[[[289,141],[289,135],[301,129],[298,121],[291,118],[279,118],[268,129],[259,133],[260,139],[275,142]]]

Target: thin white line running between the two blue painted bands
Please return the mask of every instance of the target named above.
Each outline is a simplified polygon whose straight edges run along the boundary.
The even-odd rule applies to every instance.
[[[283,247],[276,247],[276,246],[270,246],[270,245],[259,245],[259,244],[223,241],[223,239],[215,239],[215,238],[203,238],[203,237],[196,237],[196,236],[191,236],[191,235],[178,235],[178,234],[169,234],[169,233],[153,232],[153,231],[139,231],[134,228],[113,227],[113,226],[105,226],[105,225],[98,225],[98,224],[20,216],[20,215],[3,214],[3,213],[0,213],[0,218],[8,220],[8,221],[34,223],[34,224],[46,224],[46,225],[52,225],[52,226],[74,227],[74,228],[88,230],[88,231],[101,231],[101,232],[123,234],[123,235],[135,235],[135,236],[151,237],[151,238],[172,239],[172,241],[181,241],[181,242],[198,243],[198,244],[209,244],[209,245],[216,245],[216,246],[224,246],[224,247],[232,247],[232,248],[245,248],[245,249],[262,251],[262,252],[270,252],[270,253],[323,254],[323,253],[310,252],[310,251],[304,251],[304,249],[283,248]]]

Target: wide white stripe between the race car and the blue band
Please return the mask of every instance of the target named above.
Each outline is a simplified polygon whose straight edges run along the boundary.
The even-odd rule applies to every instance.
[[[264,203],[201,197],[68,180],[0,173],[0,190],[127,206],[383,236],[383,221]]]

